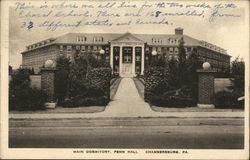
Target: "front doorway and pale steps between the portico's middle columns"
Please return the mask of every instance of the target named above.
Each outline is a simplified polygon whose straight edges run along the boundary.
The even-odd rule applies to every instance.
[[[132,77],[132,47],[122,48],[122,74],[123,77]]]

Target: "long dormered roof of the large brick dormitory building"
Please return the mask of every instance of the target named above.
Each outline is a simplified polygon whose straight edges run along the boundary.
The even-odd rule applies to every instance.
[[[134,41],[144,42],[150,46],[177,46],[179,40],[183,37],[185,46],[202,46],[216,52],[226,54],[226,50],[211,43],[200,41],[187,35],[180,34],[133,34],[133,33],[67,33],[57,38],[50,38],[51,44],[79,44],[79,45],[104,45],[109,42],[121,41],[129,37]],[[48,42],[45,40],[45,42]],[[27,46],[27,50],[42,47],[44,41]],[[46,45],[48,45],[46,43]],[[32,47],[31,47],[32,46]],[[37,46],[37,47],[36,47]],[[29,48],[31,47],[31,48]]]

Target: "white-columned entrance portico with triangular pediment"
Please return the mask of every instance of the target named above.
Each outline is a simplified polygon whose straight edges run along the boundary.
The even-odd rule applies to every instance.
[[[144,42],[127,33],[110,42],[110,65],[121,77],[134,77],[144,71]]]

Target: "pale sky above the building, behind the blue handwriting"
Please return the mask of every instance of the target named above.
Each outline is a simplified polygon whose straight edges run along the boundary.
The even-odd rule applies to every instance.
[[[82,1],[84,2],[84,1]],[[94,2],[92,2],[94,3]],[[140,4],[142,2],[138,2]],[[182,2],[181,2],[182,3]],[[206,2],[207,4],[215,5],[215,2]],[[88,4],[91,4],[88,2]],[[185,3],[183,3],[185,4]],[[184,29],[184,34],[205,40],[227,50],[227,53],[232,56],[232,59],[239,56],[247,59],[249,56],[249,11],[246,1],[235,2],[237,8],[234,13],[240,15],[240,18],[217,18],[213,22],[208,21],[208,16],[205,18],[193,17],[167,17],[172,25],[136,25],[130,26],[81,26],[78,28],[59,28],[55,31],[47,31],[45,28],[33,28],[28,30],[20,26],[24,21],[32,20],[32,18],[23,19],[18,16],[19,12],[14,10],[15,5],[12,4],[9,12],[9,64],[14,68],[20,66],[22,62],[21,52],[25,50],[27,45],[45,40],[51,37],[58,37],[66,33],[137,33],[137,34],[174,34],[174,29],[181,27]],[[67,9],[64,9],[66,11]],[[154,10],[153,8],[149,11]],[[167,11],[180,11],[176,8],[168,8]],[[197,11],[203,9],[197,9]],[[34,11],[35,10],[31,10]],[[95,12],[94,10],[89,10]],[[109,10],[108,10],[109,11]],[[112,9],[112,13],[128,12],[128,9]],[[44,11],[43,11],[44,12]],[[145,11],[146,12],[146,11]],[[208,11],[210,12],[210,10]],[[45,12],[44,12],[45,13]],[[126,18],[112,18],[114,22],[125,21]],[[64,19],[67,22],[73,22],[72,18]],[[33,19],[34,23],[42,22],[44,19]]]

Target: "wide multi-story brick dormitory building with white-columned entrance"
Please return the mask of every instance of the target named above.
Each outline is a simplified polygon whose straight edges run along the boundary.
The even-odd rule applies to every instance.
[[[184,35],[182,28],[176,28],[175,34],[170,35],[68,33],[27,46],[22,52],[22,66],[34,68],[37,73],[46,60],[55,60],[60,54],[72,58],[76,50],[81,54],[91,51],[104,53],[103,57],[110,63],[114,73],[134,76],[143,74],[145,65],[156,53],[155,56],[164,56],[166,59],[177,58],[182,37],[187,56],[196,48],[199,59],[209,62],[212,68],[219,71],[230,66],[230,56],[226,50]]]

